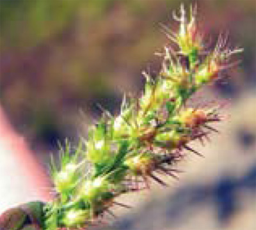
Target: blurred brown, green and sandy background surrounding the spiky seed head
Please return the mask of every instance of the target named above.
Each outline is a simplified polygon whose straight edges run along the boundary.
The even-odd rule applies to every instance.
[[[0,0],[0,211],[33,197],[47,197],[42,192],[50,185],[45,165],[50,153],[57,152],[58,141],[68,137],[76,144],[99,118],[97,104],[115,114],[124,92],[143,88],[141,71],[159,70],[160,60],[154,52],[168,43],[159,24],[177,29],[172,10],[180,3]],[[223,73],[225,81],[205,92],[209,100],[228,98],[224,113],[230,116],[217,125],[221,134],[212,135],[207,146],[195,144],[205,158],[186,158],[179,166],[185,171],[179,182],[170,180],[170,188],[162,192],[157,187],[157,196],[153,189],[121,197],[127,204],[136,203],[136,208],[116,210],[120,217],[116,222],[110,220],[114,222],[111,229],[253,230],[256,3],[183,3],[198,5],[198,21],[212,42],[220,31],[228,31],[230,44],[244,48],[241,65]],[[20,138],[22,147],[15,141]],[[25,178],[33,174],[31,169],[37,177],[30,175],[28,183]],[[43,180],[36,185],[39,188],[35,180]],[[4,199],[6,192],[9,197]]]

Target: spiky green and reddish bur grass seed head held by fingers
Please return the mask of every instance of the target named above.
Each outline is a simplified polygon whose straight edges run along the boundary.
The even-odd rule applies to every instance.
[[[220,121],[216,107],[188,107],[198,89],[218,77],[241,49],[227,47],[220,35],[215,48],[207,50],[198,30],[196,9],[187,17],[184,6],[173,18],[180,24],[177,33],[163,26],[175,47],[166,46],[160,55],[157,76],[143,72],[145,89],[139,98],[124,96],[118,116],[104,111],[97,125],[90,127],[88,140],[75,153],[67,143],[61,149],[60,167],[52,163],[56,199],[45,208],[45,229],[84,229],[100,222],[115,197],[150,188],[150,182],[166,185],[158,175],[177,177],[175,164],[191,151],[191,141],[205,141]],[[184,151],[187,150],[187,151]]]

